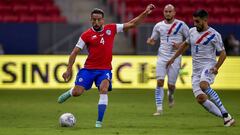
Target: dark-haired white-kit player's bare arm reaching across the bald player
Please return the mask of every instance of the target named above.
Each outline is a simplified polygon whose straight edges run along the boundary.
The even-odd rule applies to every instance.
[[[188,47],[189,47],[189,44],[186,41],[184,41],[180,45],[180,48],[177,50],[177,52],[174,54],[174,56],[167,62],[166,67],[168,68],[178,56],[180,56],[187,50]]]

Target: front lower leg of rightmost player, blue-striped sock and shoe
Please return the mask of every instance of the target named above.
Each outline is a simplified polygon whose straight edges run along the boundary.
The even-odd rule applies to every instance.
[[[211,88],[208,87],[205,90],[205,93],[210,97],[210,100],[219,108],[219,110],[222,113],[224,126],[232,126],[235,123],[235,120],[232,118],[232,116],[228,113],[228,111],[225,109],[225,107],[222,104],[221,99],[219,98],[218,94]]]

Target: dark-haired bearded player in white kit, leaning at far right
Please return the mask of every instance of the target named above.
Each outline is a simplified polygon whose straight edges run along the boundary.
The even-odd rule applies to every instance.
[[[223,118],[225,126],[232,126],[235,120],[223,106],[218,94],[210,87],[214,82],[218,69],[226,59],[226,52],[221,35],[208,26],[207,20],[208,13],[205,10],[200,9],[194,12],[193,21],[195,27],[190,29],[189,38],[168,61],[167,66],[170,66],[191,45],[192,88],[195,98],[207,111]],[[220,54],[217,61],[216,51]]]

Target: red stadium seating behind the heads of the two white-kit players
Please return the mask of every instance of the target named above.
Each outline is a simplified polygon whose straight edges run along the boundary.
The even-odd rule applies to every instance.
[[[157,22],[162,17],[163,7],[171,3],[176,6],[177,18],[181,18],[186,23],[191,24],[191,15],[194,10],[206,9],[212,17],[210,24],[236,24],[240,20],[239,0],[108,0],[108,5],[117,7],[117,15],[122,21],[129,20],[132,16],[139,14],[149,3],[155,4],[158,9],[146,19],[145,22]],[[113,6],[118,4],[118,6]],[[223,6],[224,5],[224,6]]]

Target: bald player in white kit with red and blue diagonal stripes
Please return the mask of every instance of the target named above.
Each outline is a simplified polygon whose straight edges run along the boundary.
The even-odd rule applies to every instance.
[[[166,64],[177,51],[179,44],[189,35],[188,26],[183,21],[174,18],[176,12],[173,5],[166,5],[163,14],[165,19],[155,25],[151,37],[147,40],[147,44],[155,45],[156,41],[160,38],[156,66],[157,87],[155,90],[157,111],[153,114],[154,116],[162,114],[163,111],[163,85],[166,75],[168,76],[169,107],[172,107],[174,104],[173,93],[181,67],[181,56],[179,56],[168,69],[166,69]]]

